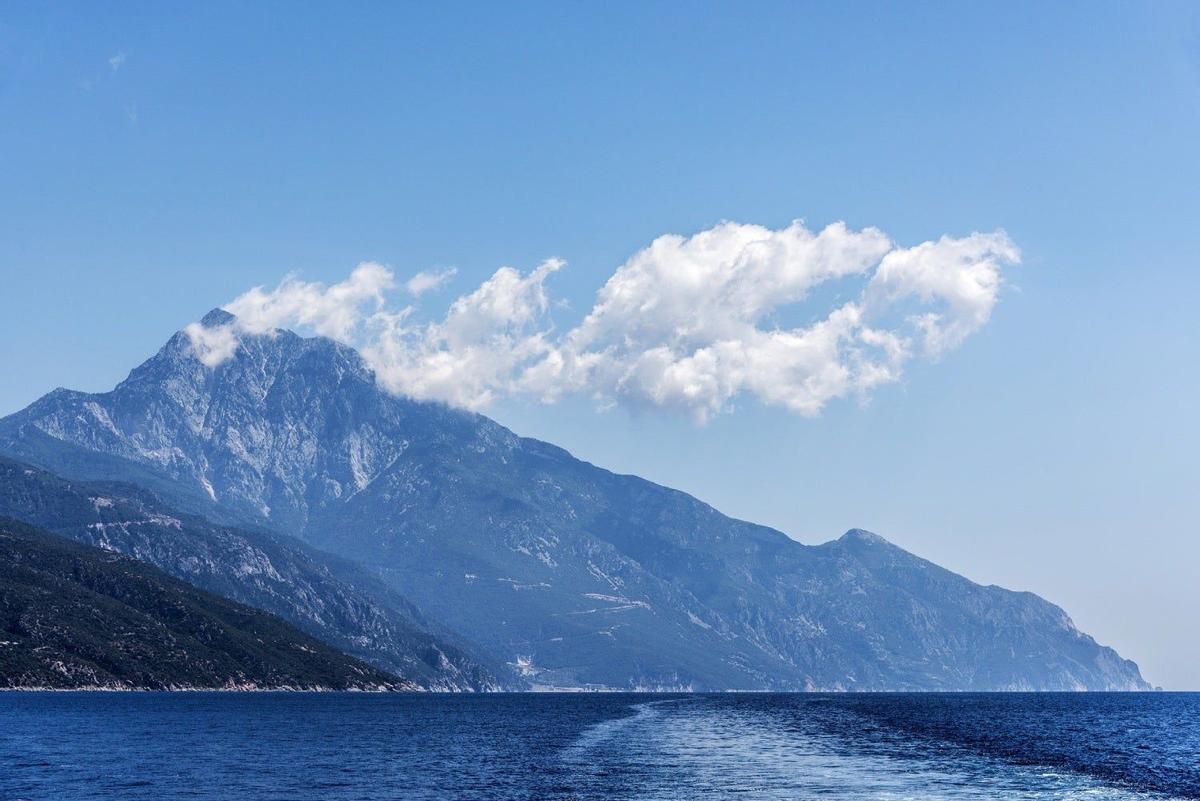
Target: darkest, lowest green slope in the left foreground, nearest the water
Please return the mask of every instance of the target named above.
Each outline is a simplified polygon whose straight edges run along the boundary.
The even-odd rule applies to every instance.
[[[0,687],[412,689],[274,615],[0,518]]]

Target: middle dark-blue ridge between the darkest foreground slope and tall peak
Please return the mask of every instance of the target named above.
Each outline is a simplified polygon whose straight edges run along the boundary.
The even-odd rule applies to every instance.
[[[506,686],[370,572],[290,537],[176,512],[132,484],[65,481],[2,457],[0,516],[150,562],[422,688]]]

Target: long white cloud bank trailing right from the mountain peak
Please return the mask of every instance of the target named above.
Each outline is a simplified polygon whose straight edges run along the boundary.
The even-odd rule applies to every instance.
[[[412,306],[390,309],[388,293],[419,296],[452,271],[397,284],[365,263],[330,287],[289,277],[254,288],[226,306],[238,317],[229,331],[197,332],[193,344],[212,367],[235,353],[229,339],[241,332],[307,327],[359,347],[384,389],[468,409],[509,396],[587,396],[601,408],[674,409],[703,421],[751,397],[814,416],[901,380],[913,359],[960,347],[988,323],[1002,269],[1019,260],[1003,231],[899,247],[878,229],[844,223],[812,231],[800,222],[775,230],[725,222],[650,242],[562,332],[547,289],[558,259],[528,273],[500,267],[427,323],[414,321]],[[781,323],[799,317],[809,323]]]

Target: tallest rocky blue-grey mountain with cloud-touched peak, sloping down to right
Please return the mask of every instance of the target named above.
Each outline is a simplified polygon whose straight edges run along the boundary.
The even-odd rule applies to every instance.
[[[216,368],[180,332],[112,392],[56,390],[0,421],[0,452],[370,565],[533,686],[1148,688],[1034,595],[863,531],[805,546],[731,519],[388,395],[329,339],[239,337]]]

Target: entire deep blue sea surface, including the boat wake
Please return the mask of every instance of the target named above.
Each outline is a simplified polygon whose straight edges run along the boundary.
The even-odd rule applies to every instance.
[[[0,693],[0,799],[1200,799],[1200,694]]]

